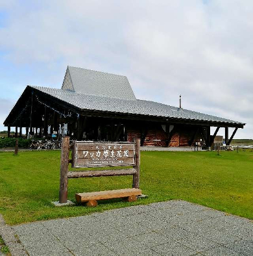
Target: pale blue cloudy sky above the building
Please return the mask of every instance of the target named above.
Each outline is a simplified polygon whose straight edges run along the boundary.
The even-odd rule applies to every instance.
[[[69,65],[126,75],[138,99],[181,94],[253,138],[252,13],[251,0],[0,0],[0,131],[27,84],[60,88]]]

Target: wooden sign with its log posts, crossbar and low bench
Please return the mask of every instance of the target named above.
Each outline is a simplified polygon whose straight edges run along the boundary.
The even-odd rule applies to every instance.
[[[97,200],[124,198],[126,201],[136,201],[141,196],[139,189],[139,149],[140,140],[129,142],[73,142],[72,159],[69,160],[69,137],[62,140],[60,192],[59,203],[67,202],[67,180],[81,177],[101,177],[116,175],[132,175],[132,188],[106,190],[97,192],[77,193],[77,203],[86,203],[89,207],[97,206]],[[132,166],[121,170],[88,170],[68,172],[72,168],[91,168],[104,166]]]

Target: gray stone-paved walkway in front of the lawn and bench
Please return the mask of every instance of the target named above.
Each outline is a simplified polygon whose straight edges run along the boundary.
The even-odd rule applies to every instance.
[[[13,226],[32,255],[253,255],[253,224],[186,201]]]

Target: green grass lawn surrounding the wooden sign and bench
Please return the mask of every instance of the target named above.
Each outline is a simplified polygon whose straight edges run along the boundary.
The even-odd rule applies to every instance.
[[[78,216],[94,211],[184,199],[253,219],[253,151],[141,152],[141,189],[134,203],[102,201],[96,208],[54,207],[58,200],[60,151],[0,153],[0,213],[7,224]],[[75,193],[128,188],[132,176],[69,180]]]

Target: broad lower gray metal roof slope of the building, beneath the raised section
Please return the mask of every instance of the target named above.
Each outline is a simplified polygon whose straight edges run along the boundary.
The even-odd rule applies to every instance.
[[[45,94],[56,97],[70,105],[82,110],[99,110],[106,112],[119,112],[125,114],[141,114],[145,116],[158,116],[163,118],[183,118],[187,120],[200,120],[210,122],[237,123],[234,120],[219,118],[187,109],[179,109],[170,105],[157,103],[154,101],[144,101],[140,99],[119,99],[112,97],[94,96],[88,94],[78,94],[69,90],[31,86]]]

